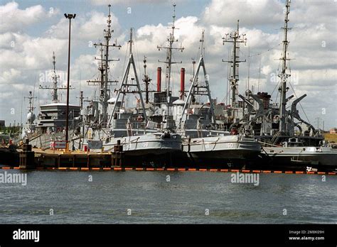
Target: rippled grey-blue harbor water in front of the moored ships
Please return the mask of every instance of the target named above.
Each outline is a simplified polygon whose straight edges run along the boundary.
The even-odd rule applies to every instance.
[[[260,174],[254,185],[225,172],[6,172],[27,185],[0,183],[1,224],[337,223],[333,175]]]

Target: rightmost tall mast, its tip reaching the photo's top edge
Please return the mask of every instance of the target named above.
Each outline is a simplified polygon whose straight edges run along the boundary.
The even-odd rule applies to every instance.
[[[280,102],[279,102],[279,131],[282,134],[287,133],[287,116],[286,116],[286,107],[287,107],[287,79],[290,77],[290,74],[287,74],[287,52],[288,52],[288,22],[289,22],[289,9],[290,9],[290,0],[287,0],[286,3],[286,13],[284,16],[284,39],[282,41],[283,43],[283,51],[282,51],[282,57],[280,60],[282,60],[282,72],[279,73],[279,77],[281,78],[281,86],[279,87],[280,92]]]

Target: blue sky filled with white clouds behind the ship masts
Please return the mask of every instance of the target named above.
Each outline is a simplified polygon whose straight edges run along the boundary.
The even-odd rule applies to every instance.
[[[73,0],[73,1],[4,1],[0,0],[0,119],[6,125],[25,122],[28,92],[32,91],[38,106],[51,101],[53,51],[60,84],[66,84],[68,65],[69,21],[64,13],[76,13],[71,29],[70,103],[79,104],[79,92],[92,97],[96,87],[87,80],[98,75],[99,50],[92,44],[103,41],[107,25],[107,5],[112,4],[112,39],[122,45],[112,49],[110,63],[112,79],[121,79],[126,65],[129,30],[134,28],[134,58],[139,77],[144,76],[144,56],[147,72],[156,88],[156,67],[164,67],[164,50],[176,4],[176,47],[173,53],[173,93],[178,95],[179,72],[186,68],[186,81],[193,72],[192,58],[200,56],[200,38],[205,30],[205,67],[210,91],[218,103],[228,100],[228,54],[230,43],[223,45],[226,33],[235,30],[240,20],[240,33],[246,34],[246,45],[240,46],[239,91],[248,87],[272,94],[279,101],[277,75],[281,69],[284,8],[282,0]],[[289,92],[296,99],[307,96],[298,107],[303,119],[327,130],[337,127],[337,1],[293,0],[289,13]],[[248,80],[249,75],[249,80]],[[249,83],[248,83],[249,82]],[[112,91],[114,87],[112,86]],[[144,84],[141,84],[144,87]],[[186,83],[189,87],[189,82]],[[294,90],[294,91],[293,91]],[[295,93],[294,93],[295,92]],[[113,96],[113,95],[112,95]],[[65,99],[63,93],[62,99]],[[130,99],[135,100],[135,99]]]

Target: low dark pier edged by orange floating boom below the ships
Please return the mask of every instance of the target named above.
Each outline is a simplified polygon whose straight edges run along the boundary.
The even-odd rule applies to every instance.
[[[63,149],[47,149],[32,148],[28,141],[22,145],[19,153],[19,163],[3,166],[2,169],[19,169],[19,170],[114,170],[114,171],[198,171],[198,172],[242,172],[242,173],[277,173],[277,174],[316,174],[316,175],[336,175],[336,170],[303,170],[294,167],[284,166],[260,166],[260,168],[235,167],[228,168],[221,165],[193,165],[193,163],[185,163],[181,160],[176,165],[159,165],[153,163],[135,163],[125,155],[123,146],[117,143],[112,152],[92,152],[86,151],[68,151]]]

